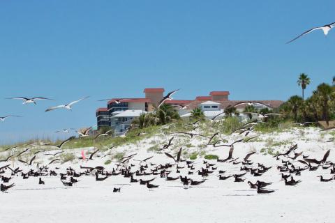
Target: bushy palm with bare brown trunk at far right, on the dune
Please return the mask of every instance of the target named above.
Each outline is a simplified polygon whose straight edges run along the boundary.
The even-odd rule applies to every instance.
[[[322,83],[316,89],[320,99],[320,105],[322,107],[322,119],[329,123],[329,101],[332,95],[332,86],[326,83]]]

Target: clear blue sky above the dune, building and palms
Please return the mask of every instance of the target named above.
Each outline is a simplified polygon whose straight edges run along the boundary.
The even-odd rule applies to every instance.
[[[0,144],[96,123],[96,100],[181,89],[177,99],[230,91],[234,100],[286,100],[297,76],[331,82],[335,1],[1,1]],[[44,110],[90,95],[73,112]],[[37,106],[5,100],[44,96]],[[65,136],[62,136],[65,137]]]

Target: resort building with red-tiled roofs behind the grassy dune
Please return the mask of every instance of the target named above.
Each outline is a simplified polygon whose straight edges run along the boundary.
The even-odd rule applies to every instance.
[[[98,129],[108,126],[114,129],[115,135],[124,134],[130,127],[134,118],[147,112],[153,112],[154,108],[163,99],[165,90],[163,88],[144,89],[145,98],[126,98],[116,102],[120,98],[113,98],[107,102],[107,107],[96,110],[96,121]],[[225,108],[237,105],[239,102],[251,102],[248,100],[229,100],[229,91],[211,91],[208,96],[198,96],[194,100],[167,100],[168,105],[175,105],[181,118],[188,118],[195,108],[200,108],[206,118],[223,118]],[[253,105],[256,109],[276,109],[283,101],[281,100],[253,100],[264,105]],[[182,109],[182,107],[185,107]],[[246,104],[239,105],[237,111],[243,112]],[[241,115],[241,118],[245,115]]]

